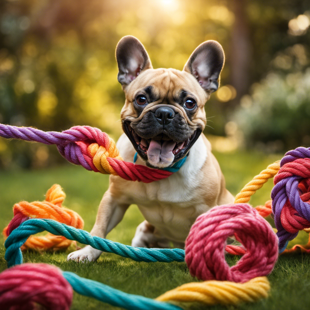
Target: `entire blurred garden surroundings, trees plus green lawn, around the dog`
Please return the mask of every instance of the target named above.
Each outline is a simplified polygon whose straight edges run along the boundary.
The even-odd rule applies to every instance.
[[[136,36],[154,68],[180,70],[201,42],[214,39],[226,63],[206,103],[205,134],[235,195],[288,149],[310,146],[309,26],[310,0],[0,0],[0,122],[45,131],[90,125],[117,139],[124,103],[114,56],[119,39]],[[0,138],[1,229],[14,203],[43,200],[54,183],[90,231],[108,176],[67,164],[55,146]],[[264,204],[271,188],[269,181],[250,203]],[[108,238],[130,244],[142,220],[131,207]],[[307,238],[299,234],[295,242]],[[141,265],[111,254],[77,265],[66,255],[24,257],[148,297],[193,281],[184,263]],[[269,277],[271,297],[241,308],[309,309],[308,266],[302,255],[282,256]],[[5,268],[1,242],[0,271]],[[72,309],[99,308],[74,297]]]

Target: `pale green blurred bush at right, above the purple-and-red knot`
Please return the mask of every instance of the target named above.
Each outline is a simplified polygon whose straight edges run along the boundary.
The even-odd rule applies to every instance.
[[[249,146],[278,151],[310,145],[310,68],[302,45],[296,44],[277,55],[275,66],[251,95],[241,99],[234,114]],[[294,64],[295,63],[295,64]],[[285,69],[294,68],[285,73]]]

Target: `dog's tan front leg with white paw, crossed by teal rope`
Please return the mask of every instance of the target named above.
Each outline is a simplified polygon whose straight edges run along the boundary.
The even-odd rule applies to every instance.
[[[112,197],[109,190],[107,190],[100,202],[97,218],[93,229],[92,236],[105,238],[105,236],[122,220],[129,205],[119,204]],[[93,262],[99,258],[102,251],[94,249],[91,246],[70,253],[68,260],[89,261]]]

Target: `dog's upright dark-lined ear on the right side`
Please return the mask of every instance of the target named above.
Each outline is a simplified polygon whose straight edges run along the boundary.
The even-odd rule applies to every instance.
[[[191,73],[207,93],[212,93],[219,88],[224,62],[223,47],[219,42],[209,40],[193,51],[183,70]]]

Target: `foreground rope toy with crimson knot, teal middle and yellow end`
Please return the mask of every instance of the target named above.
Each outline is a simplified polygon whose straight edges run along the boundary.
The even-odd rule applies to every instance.
[[[45,306],[46,309],[68,310],[72,303],[72,289],[84,296],[130,310],[182,310],[165,301],[237,305],[240,302],[254,302],[266,298],[270,290],[266,277],[258,277],[242,284],[206,281],[184,284],[153,300],[127,294],[100,282],[79,277],[73,272],[61,272],[57,267],[42,263],[25,263],[11,267],[0,273],[0,284],[0,307],[10,310],[25,309],[25,303],[26,309],[32,310],[32,302]],[[38,291],[40,294],[33,294]],[[193,294],[188,294],[188,291]]]

